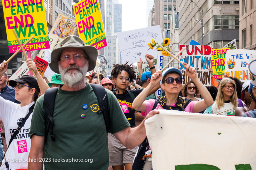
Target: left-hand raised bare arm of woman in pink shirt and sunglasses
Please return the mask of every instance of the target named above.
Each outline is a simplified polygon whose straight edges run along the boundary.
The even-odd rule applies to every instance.
[[[148,86],[145,89],[143,89],[142,92],[133,100],[132,108],[134,108],[135,110],[145,112],[146,103],[144,102],[144,100],[148,95],[153,93],[152,91],[154,91],[154,89],[157,90],[160,88],[161,75],[162,72],[158,70],[151,76],[151,81],[148,84]]]

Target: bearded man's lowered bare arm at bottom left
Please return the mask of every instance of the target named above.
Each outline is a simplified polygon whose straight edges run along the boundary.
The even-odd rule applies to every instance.
[[[33,160],[28,162],[28,170],[43,170],[44,137],[32,135],[31,149],[28,158],[29,160]]]

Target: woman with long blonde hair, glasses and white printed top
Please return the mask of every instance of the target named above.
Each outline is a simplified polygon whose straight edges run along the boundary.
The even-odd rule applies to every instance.
[[[212,105],[212,114],[234,116],[236,107],[244,107],[245,104],[241,100],[237,100],[236,85],[230,78],[223,78],[220,81],[218,93],[215,102]],[[231,110],[229,110],[231,109]]]

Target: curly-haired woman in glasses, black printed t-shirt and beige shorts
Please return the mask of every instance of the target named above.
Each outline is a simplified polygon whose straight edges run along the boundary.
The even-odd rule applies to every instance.
[[[153,56],[152,56],[153,57]],[[135,110],[132,108],[132,102],[142,90],[126,90],[129,82],[133,82],[136,79],[135,71],[132,67],[125,64],[114,64],[111,76],[115,81],[114,95],[116,96],[119,104],[130,123],[131,128],[135,127]],[[160,84],[152,89],[148,95],[154,93],[160,88]],[[145,98],[146,99],[146,98]],[[113,135],[108,134],[108,148],[109,148],[109,165],[113,167],[113,170],[131,170],[132,162],[138,147],[134,149],[128,149],[124,147],[121,142]]]

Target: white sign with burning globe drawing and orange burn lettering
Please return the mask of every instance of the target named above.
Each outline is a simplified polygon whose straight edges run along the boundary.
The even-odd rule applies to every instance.
[[[226,53],[225,74],[246,82],[250,80],[249,68],[251,55],[256,51],[249,49],[232,49]]]

